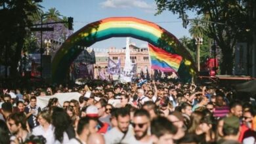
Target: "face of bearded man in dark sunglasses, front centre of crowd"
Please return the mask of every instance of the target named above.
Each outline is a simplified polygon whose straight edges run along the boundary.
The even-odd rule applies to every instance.
[[[150,119],[146,116],[133,117],[133,129],[135,132],[135,138],[137,140],[142,139],[146,136],[148,132],[148,127],[150,125]]]

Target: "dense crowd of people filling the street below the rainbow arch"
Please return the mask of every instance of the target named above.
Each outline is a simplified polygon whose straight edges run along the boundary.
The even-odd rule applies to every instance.
[[[81,96],[37,105],[39,97],[66,92]],[[255,144],[253,100],[229,88],[171,81],[3,89],[0,144]]]

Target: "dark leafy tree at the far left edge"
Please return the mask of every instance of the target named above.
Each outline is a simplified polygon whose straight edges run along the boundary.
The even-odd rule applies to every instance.
[[[24,39],[32,26],[32,16],[37,12],[37,1],[3,0],[0,2],[0,62],[11,66],[11,75],[17,76],[17,65],[21,58]]]

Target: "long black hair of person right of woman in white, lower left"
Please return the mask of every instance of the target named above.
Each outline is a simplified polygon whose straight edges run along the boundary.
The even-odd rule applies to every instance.
[[[68,129],[68,126],[72,123],[72,120],[66,113],[66,111],[60,107],[53,108],[53,126],[55,127],[54,130],[54,137],[56,140],[62,143],[64,132]]]

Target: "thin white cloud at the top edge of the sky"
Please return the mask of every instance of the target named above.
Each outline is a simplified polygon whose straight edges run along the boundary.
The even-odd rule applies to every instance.
[[[156,9],[155,3],[146,3],[144,0],[105,0],[104,2],[100,3],[102,7],[105,8],[131,8],[137,7],[139,9],[144,10],[144,12],[154,12]]]

